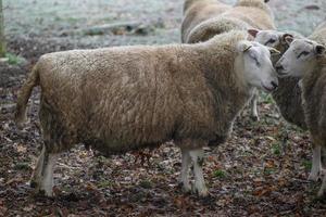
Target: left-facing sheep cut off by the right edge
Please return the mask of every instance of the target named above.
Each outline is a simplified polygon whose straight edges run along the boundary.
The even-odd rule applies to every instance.
[[[322,24],[309,37],[303,39],[287,38],[289,49],[276,63],[276,69],[281,77],[298,77],[301,79],[302,106],[306,127],[313,145],[313,167],[310,178],[316,179],[323,173],[321,164],[321,148],[325,148],[325,88],[326,87],[326,25]],[[324,195],[326,176],[323,178],[318,196]]]

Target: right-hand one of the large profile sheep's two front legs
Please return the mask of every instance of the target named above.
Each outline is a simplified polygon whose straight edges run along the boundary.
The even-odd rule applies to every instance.
[[[192,190],[195,193],[198,193],[200,196],[206,196],[209,194],[209,191],[204,183],[204,177],[203,177],[203,149],[195,149],[189,151],[190,158],[193,163],[193,177],[195,177],[195,183]]]

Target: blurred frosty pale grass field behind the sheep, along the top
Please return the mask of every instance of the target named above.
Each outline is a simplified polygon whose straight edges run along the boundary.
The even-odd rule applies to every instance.
[[[27,59],[37,52],[80,47],[179,42],[183,3],[183,0],[3,0],[5,36],[9,49]],[[271,0],[268,4],[279,29],[304,35],[326,16],[325,0]],[[29,41],[32,48],[26,44]]]

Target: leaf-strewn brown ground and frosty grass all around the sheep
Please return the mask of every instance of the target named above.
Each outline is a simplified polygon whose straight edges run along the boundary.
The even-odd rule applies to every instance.
[[[280,29],[309,34],[325,16],[325,1],[271,0]],[[308,181],[311,145],[306,132],[287,124],[271,95],[262,94],[261,120],[244,110],[231,138],[205,149],[210,196],[178,187],[180,153],[162,145],[141,162],[140,153],[102,157],[84,146],[63,153],[55,169],[55,196],[35,195],[28,186],[41,145],[37,127],[39,89],[30,100],[30,124],[12,120],[16,92],[35,61],[47,52],[135,43],[178,42],[181,1],[4,1],[9,50],[27,60],[0,64],[0,216],[325,216],[321,184]],[[233,1],[230,1],[233,2]],[[145,34],[122,29],[85,35],[86,28],[140,22]]]

